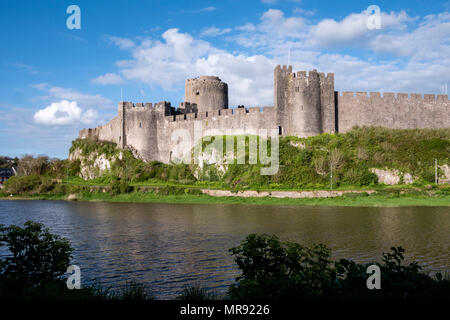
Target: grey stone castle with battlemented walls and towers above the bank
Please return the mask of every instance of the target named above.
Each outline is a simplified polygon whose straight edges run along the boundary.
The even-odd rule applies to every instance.
[[[448,95],[334,91],[334,74],[316,70],[274,70],[274,106],[228,108],[228,85],[218,77],[186,80],[185,99],[170,102],[119,102],[118,115],[95,129],[83,129],[80,139],[111,141],[146,160],[169,163],[180,148],[205,136],[258,134],[276,130],[285,136],[307,137],[346,132],[353,126],[387,128],[450,128]],[[180,134],[181,132],[181,134]],[[189,137],[182,146],[183,136]],[[177,153],[178,152],[178,153]]]

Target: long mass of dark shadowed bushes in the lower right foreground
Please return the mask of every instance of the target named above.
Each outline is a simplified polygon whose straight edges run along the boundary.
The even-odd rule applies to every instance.
[[[450,279],[422,273],[417,262],[404,265],[404,249],[383,253],[383,263],[330,260],[324,245],[305,247],[276,236],[251,234],[230,249],[242,274],[231,285],[231,299],[443,299],[450,298]],[[367,268],[381,270],[382,290],[368,290]]]

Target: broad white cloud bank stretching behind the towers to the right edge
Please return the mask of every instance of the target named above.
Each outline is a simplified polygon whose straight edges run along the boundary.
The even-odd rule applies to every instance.
[[[228,83],[230,105],[247,106],[273,104],[273,68],[287,64],[288,49],[294,70],[334,72],[341,91],[433,93],[450,81],[448,13],[421,20],[403,11],[382,13],[382,29],[375,31],[366,19],[361,12],[312,23],[270,9],[258,24],[226,32],[226,40],[238,44],[236,51],[168,29],[161,39],[136,43],[130,57],[116,66],[124,79],[179,92],[186,78],[217,75]],[[358,47],[363,54],[321,51],[336,46]],[[382,59],[378,52],[395,56]]]

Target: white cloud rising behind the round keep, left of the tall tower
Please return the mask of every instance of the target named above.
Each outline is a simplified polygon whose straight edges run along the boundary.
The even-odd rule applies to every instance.
[[[186,78],[218,75],[228,83],[230,104],[272,104],[274,61],[263,55],[231,54],[178,29],[163,33],[164,41],[137,47],[132,59],[118,62],[126,79],[167,90],[181,88]]]

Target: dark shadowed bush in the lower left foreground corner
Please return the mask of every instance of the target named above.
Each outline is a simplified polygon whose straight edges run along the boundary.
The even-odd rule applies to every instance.
[[[0,225],[0,247],[9,255],[0,259],[0,300],[149,300],[149,291],[130,282],[118,293],[100,286],[69,290],[63,279],[72,247],[67,239],[53,235],[40,223],[24,227]]]

